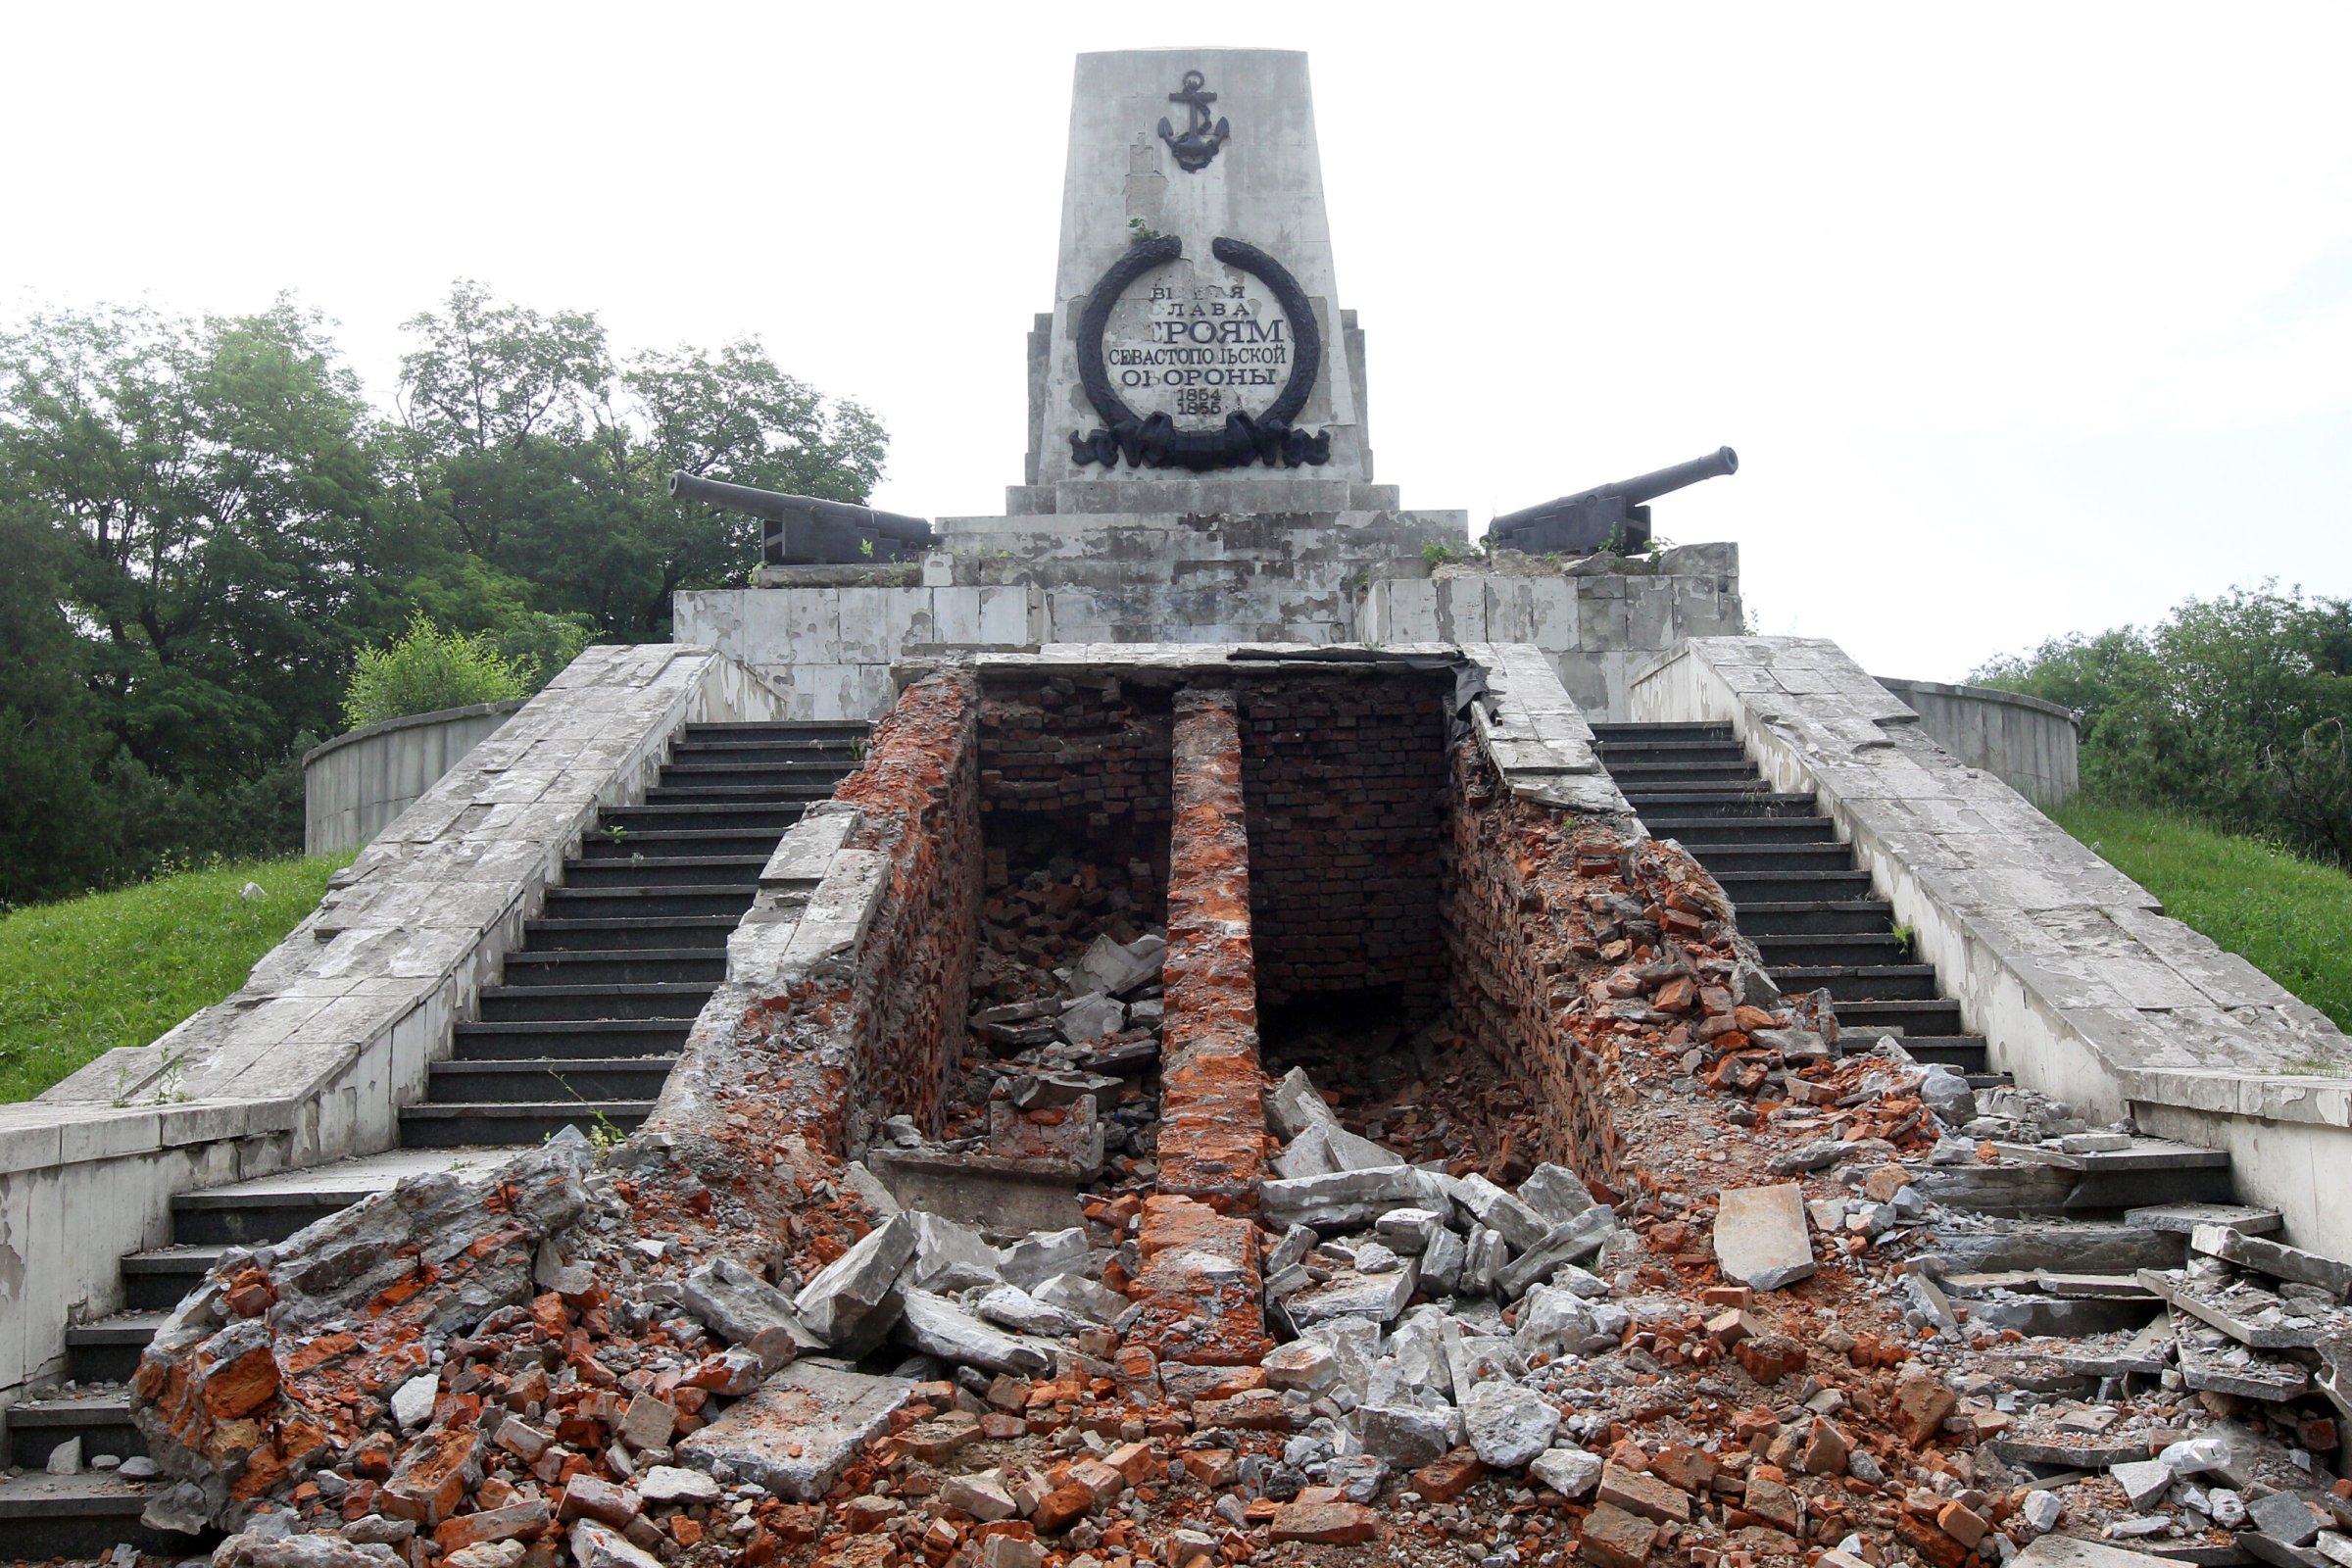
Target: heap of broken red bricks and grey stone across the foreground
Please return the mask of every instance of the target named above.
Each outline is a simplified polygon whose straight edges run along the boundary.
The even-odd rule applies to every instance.
[[[1536,1046],[1322,1027],[1263,1178],[1171,1192],[1148,867],[997,877],[936,1135],[562,1138],[235,1251],[141,1366],[172,1507],[247,1568],[2352,1568],[2352,1269],[2034,1218],[2150,1140],[1778,994],[1672,846],[1479,832]]]

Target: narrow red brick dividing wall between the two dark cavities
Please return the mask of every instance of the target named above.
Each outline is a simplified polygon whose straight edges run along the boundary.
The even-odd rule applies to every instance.
[[[1265,1175],[1242,736],[1230,691],[1176,696],[1174,755],[1160,1190],[1230,1213],[1256,1204]]]

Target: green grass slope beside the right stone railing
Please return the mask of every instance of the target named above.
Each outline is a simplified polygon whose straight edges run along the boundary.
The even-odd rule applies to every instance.
[[[2352,1030],[2352,875],[2161,811],[2070,802],[2051,816],[2166,914]]]

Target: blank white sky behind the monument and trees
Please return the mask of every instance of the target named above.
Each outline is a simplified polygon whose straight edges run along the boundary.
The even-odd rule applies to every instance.
[[[456,275],[753,331],[1000,512],[1070,56],[1312,54],[1381,480],[1658,505],[1762,630],[1959,677],[2352,592],[2347,5],[9,7],[0,313],[296,289],[388,397]]]

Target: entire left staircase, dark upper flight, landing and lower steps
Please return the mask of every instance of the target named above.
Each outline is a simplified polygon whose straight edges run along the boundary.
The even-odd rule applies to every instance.
[[[92,1460],[146,1455],[125,1380],[223,1248],[282,1241],[402,1175],[494,1166],[562,1126],[635,1128],[724,978],[727,933],[776,839],[856,769],[866,729],[689,726],[644,804],[607,809],[564,863],[506,983],[456,1025],[426,1100],[402,1107],[402,1150],[172,1199],[172,1244],[122,1258],[122,1312],[66,1331],[66,1389],[7,1410],[5,1458],[26,1474],[0,1481],[0,1561],[191,1547],[139,1523],[162,1483]],[[73,1439],[85,1469],[47,1474]]]

